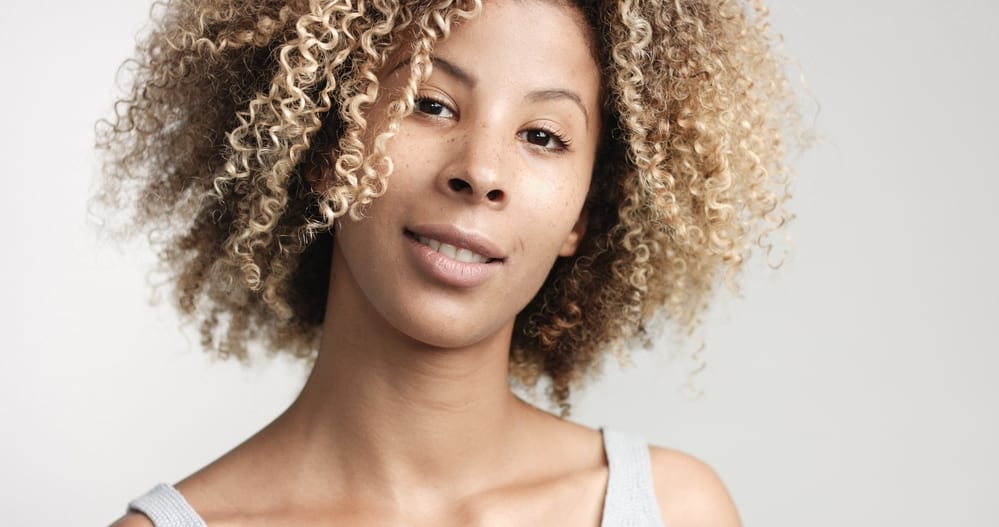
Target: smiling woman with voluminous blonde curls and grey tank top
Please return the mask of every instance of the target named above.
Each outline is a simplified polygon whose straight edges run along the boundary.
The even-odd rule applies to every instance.
[[[101,132],[102,197],[161,234],[207,347],[314,365],[284,414],[115,525],[738,525],[701,462],[508,381],[546,378],[564,417],[784,221],[760,14],[168,4]]]

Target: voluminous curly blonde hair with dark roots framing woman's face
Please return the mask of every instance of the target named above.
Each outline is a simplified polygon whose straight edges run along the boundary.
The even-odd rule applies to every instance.
[[[203,344],[314,356],[342,217],[387,190],[386,143],[413,111],[434,44],[483,0],[171,0],[102,121],[99,200],[156,233]],[[661,312],[696,325],[722,276],[790,215],[783,138],[796,113],[759,4],[574,1],[605,102],[588,234],[521,311],[510,374],[553,402]],[[410,79],[370,148],[375,75],[401,46]],[[336,152],[331,156],[330,152]],[[334,182],[317,193],[310,174]]]

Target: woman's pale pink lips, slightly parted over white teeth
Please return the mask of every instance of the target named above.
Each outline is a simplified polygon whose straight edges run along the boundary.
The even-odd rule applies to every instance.
[[[489,258],[490,261],[460,262],[420,243],[416,239],[419,236],[433,238],[459,249],[468,249]],[[481,235],[452,225],[421,225],[406,228],[403,237],[409,242],[410,253],[417,267],[428,278],[447,286],[471,288],[482,285],[503,265],[503,252],[496,244]]]

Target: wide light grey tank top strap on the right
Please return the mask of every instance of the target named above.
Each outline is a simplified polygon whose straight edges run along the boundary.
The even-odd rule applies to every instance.
[[[633,434],[601,431],[609,471],[601,527],[663,527],[648,444]]]

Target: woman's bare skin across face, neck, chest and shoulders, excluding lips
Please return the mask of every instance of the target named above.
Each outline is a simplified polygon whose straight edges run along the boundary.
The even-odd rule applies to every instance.
[[[585,236],[601,125],[587,38],[572,8],[496,1],[435,47],[417,112],[389,143],[390,190],[339,226],[300,396],[176,485],[208,525],[600,524],[599,432],[507,383],[514,317]],[[405,82],[400,59],[380,75],[375,122]],[[426,224],[487,238],[502,261],[471,287],[441,280],[406,235]],[[667,525],[739,524],[710,468],[651,456]],[[151,524],[130,514],[115,525]]]

